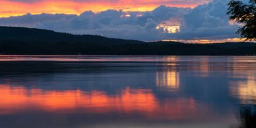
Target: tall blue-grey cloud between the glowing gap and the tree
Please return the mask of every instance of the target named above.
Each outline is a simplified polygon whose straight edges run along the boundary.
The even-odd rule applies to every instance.
[[[199,5],[183,15],[181,30],[170,35],[177,39],[223,39],[237,38],[238,25],[230,24],[228,0],[214,0],[206,5]]]

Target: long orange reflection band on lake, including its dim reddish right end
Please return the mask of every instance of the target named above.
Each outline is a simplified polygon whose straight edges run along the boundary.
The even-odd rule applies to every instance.
[[[160,102],[148,89],[127,87],[120,94],[108,95],[101,91],[56,91],[10,85],[0,85],[0,88],[0,114],[30,110],[73,113],[79,110],[87,113],[137,113],[153,119],[183,119],[197,113],[193,98],[168,98]]]

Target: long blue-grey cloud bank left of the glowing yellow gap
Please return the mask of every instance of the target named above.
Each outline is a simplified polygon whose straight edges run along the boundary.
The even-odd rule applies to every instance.
[[[110,38],[161,40],[163,30],[156,26],[170,18],[187,13],[189,8],[160,6],[153,11],[124,12],[107,10],[100,13],[86,11],[77,15],[23,15],[0,18],[2,26],[27,26],[73,34],[97,34]]]

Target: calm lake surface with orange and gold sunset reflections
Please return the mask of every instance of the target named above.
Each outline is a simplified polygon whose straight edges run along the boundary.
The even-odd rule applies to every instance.
[[[0,56],[1,128],[249,127],[255,102],[256,57]]]

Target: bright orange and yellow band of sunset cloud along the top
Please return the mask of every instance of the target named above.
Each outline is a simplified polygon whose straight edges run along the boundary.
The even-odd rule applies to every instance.
[[[40,0],[40,1],[0,1],[0,17],[24,15],[26,13],[65,13],[79,15],[84,11],[105,11],[108,9],[122,9],[123,11],[151,11],[159,5],[170,7],[195,7],[206,1],[193,0],[178,1],[178,0]]]

